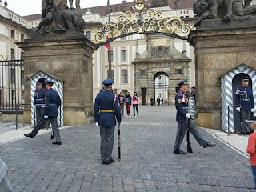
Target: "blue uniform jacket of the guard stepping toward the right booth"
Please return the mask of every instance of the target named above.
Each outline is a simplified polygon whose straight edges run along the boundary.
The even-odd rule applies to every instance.
[[[186,114],[188,112],[189,99],[186,98],[183,90],[178,90],[175,96],[175,106],[177,110],[176,121],[186,122]]]

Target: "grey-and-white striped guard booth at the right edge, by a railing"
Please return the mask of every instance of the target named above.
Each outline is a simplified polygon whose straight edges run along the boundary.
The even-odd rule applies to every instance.
[[[245,64],[241,64],[235,67],[233,70],[230,70],[226,74],[222,75],[221,83],[222,83],[222,105],[234,105],[233,92],[232,90],[232,81],[236,74],[247,74],[250,76],[252,80],[252,90],[254,95],[254,106],[256,104],[256,71],[252,69],[250,66],[246,66]],[[254,107],[255,109],[255,107]],[[230,107],[230,133],[234,133],[234,110],[233,107]],[[254,111],[255,114],[255,111]],[[227,107],[222,107],[222,130],[228,131],[228,109]]]

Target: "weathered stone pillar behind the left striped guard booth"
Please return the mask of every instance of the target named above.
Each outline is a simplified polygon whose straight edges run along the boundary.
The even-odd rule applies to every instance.
[[[24,50],[25,103],[31,103],[27,78],[39,70],[56,74],[65,80],[64,126],[90,124],[94,120],[92,54],[98,46],[84,35],[62,39],[38,38],[17,43]],[[30,113],[30,106],[26,106],[26,123],[30,123]]]

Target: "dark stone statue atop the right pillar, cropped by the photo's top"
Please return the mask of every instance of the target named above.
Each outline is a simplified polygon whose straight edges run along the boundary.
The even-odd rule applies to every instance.
[[[202,20],[221,18],[222,22],[244,21],[256,14],[252,0],[197,0],[194,3],[194,14],[198,20],[194,26],[200,26]],[[218,14],[218,12],[221,12]],[[223,14],[225,13],[225,14]]]

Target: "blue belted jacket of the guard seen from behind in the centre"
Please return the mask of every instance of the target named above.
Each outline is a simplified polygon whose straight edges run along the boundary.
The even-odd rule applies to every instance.
[[[100,112],[100,110],[114,110],[114,112]],[[118,98],[110,90],[97,94],[94,104],[94,119],[99,126],[116,126],[116,120],[121,122]]]

